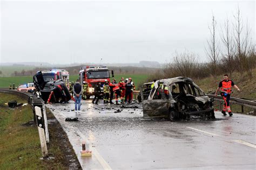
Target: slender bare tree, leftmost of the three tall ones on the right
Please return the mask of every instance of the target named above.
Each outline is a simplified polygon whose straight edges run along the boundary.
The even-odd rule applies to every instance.
[[[213,70],[212,75],[214,76],[215,81],[217,81],[217,63],[219,60],[219,48],[217,45],[216,27],[217,22],[215,20],[215,17],[212,16],[211,26],[208,26],[211,38],[207,40],[207,47],[205,48],[205,52],[208,58],[210,59],[210,64]]]

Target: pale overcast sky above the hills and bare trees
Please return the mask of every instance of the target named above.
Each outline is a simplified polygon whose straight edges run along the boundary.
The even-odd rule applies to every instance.
[[[219,31],[238,5],[254,38],[255,1],[1,1],[0,63],[206,61],[212,13]]]

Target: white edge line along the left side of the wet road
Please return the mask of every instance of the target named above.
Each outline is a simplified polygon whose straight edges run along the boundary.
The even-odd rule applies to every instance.
[[[52,111],[53,112],[53,111]],[[58,111],[59,115],[62,115],[62,117],[64,117],[64,119],[66,118],[66,116],[63,114],[63,112]],[[84,134],[77,128],[75,128],[72,125],[69,125],[70,128],[73,129],[73,131],[75,131],[82,139],[81,143],[83,140],[85,140],[85,136]],[[88,140],[86,140],[88,141]],[[99,164],[102,165],[103,169],[108,169],[111,170],[112,168],[109,166],[109,164],[107,164],[107,162],[105,161],[105,159],[99,154],[99,152],[96,150],[96,148],[91,148],[92,151],[92,155],[98,160]]]

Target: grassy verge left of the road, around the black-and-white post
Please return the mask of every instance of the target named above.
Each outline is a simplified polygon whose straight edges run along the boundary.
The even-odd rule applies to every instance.
[[[66,148],[58,144],[61,139],[56,139],[55,126],[49,126],[48,152],[56,159],[39,160],[41,145],[31,106],[9,109],[4,103],[12,100],[27,103],[16,95],[0,93],[0,169],[69,169],[63,151]],[[70,145],[69,141],[66,145]]]

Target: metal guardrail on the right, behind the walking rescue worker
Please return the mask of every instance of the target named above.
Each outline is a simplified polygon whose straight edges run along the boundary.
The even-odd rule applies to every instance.
[[[207,94],[207,96],[213,97],[214,101],[219,101],[220,102],[219,108],[220,110],[222,109],[223,103],[224,103],[222,96],[220,95],[215,96],[210,94]],[[230,97],[230,103],[241,105],[241,112],[244,112],[244,107],[252,108],[254,109],[254,112],[256,111],[256,101],[249,101],[249,100],[244,100],[242,98]]]

